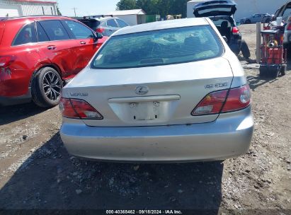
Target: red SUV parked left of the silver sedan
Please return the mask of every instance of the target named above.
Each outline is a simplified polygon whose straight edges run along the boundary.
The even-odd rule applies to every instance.
[[[59,103],[72,79],[107,40],[62,16],[0,18],[0,105]]]

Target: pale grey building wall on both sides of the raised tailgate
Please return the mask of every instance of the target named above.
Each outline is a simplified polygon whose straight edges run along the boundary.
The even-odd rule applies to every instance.
[[[205,0],[192,0],[187,3],[187,18],[194,17],[193,6]],[[235,0],[237,11],[234,14],[236,21],[248,17],[254,13],[274,14],[280,6],[286,3],[286,0]]]

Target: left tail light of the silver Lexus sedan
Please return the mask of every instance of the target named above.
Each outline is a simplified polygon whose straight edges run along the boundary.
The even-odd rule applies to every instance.
[[[59,110],[67,118],[103,120],[103,116],[84,100],[61,98],[59,101]]]

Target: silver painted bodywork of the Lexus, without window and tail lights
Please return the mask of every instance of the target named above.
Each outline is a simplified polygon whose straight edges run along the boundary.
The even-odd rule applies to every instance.
[[[249,149],[253,134],[251,106],[220,115],[190,114],[208,93],[247,83],[239,60],[209,18],[130,26],[113,36],[193,25],[212,26],[224,46],[221,57],[134,69],[87,66],[64,87],[64,98],[86,100],[104,117],[63,117],[60,134],[69,153],[100,160],[176,162],[221,160]],[[220,87],[215,88],[217,83]],[[142,91],[148,90],[145,95],[136,93],[141,86]],[[157,109],[155,102],[159,103]],[[144,105],[135,110],[135,103]],[[135,115],[139,118],[134,119]]]

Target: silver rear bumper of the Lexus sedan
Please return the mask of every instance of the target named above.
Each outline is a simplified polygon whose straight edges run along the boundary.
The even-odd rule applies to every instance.
[[[69,153],[106,161],[224,160],[244,154],[253,134],[251,107],[204,124],[88,127],[79,121],[65,120],[60,130]]]

